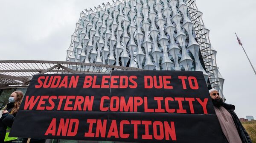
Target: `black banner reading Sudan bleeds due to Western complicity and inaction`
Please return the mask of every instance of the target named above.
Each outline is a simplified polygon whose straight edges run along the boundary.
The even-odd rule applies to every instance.
[[[185,71],[36,75],[10,135],[142,143],[223,142],[203,74]]]

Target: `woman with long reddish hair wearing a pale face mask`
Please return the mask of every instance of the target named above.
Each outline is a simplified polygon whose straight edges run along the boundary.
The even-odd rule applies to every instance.
[[[9,132],[12,127],[12,123],[20,108],[21,101],[23,99],[23,93],[21,91],[13,92],[9,97],[9,103],[1,108],[0,114],[0,143],[12,143],[12,140],[17,137],[9,137]]]

